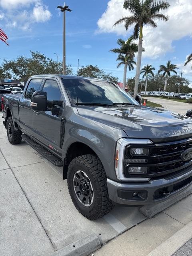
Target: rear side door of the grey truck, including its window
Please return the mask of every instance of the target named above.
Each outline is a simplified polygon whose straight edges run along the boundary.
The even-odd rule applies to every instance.
[[[31,108],[31,96],[39,90],[42,78],[31,79],[28,83],[25,94],[19,102],[19,125],[22,131],[33,136],[33,110]]]

